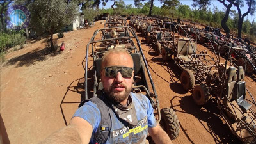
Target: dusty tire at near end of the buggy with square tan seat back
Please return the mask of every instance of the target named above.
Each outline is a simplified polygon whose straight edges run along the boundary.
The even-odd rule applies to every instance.
[[[189,69],[185,69],[183,70],[183,72],[181,73],[180,76],[180,81],[181,81],[181,85],[182,87],[189,91],[191,90],[194,85],[195,85],[195,76],[193,74],[193,72]]]

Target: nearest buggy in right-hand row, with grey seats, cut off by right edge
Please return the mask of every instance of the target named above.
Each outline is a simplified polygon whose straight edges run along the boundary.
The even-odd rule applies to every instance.
[[[218,63],[218,67],[207,74],[205,83],[195,86],[192,96],[197,105],[206,104],[210,97],[214,99],[232,134],[244,143],[256,143],[256,115],[253,111],[256,104],[246,88],[244,68],[232,60],[234,53],[252,65],[244,54],[229,47],[225,64]]]

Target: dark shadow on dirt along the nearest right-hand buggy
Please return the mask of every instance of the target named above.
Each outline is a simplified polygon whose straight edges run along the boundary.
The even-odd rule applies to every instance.
[[[174,99],[180,99],[180,104],[178,105],[178,107],[180,107],[182,111],[175,109],[177,105],[173,105],[172,101]],[[188,95],[185,97],[175,96],[170,102],[170,108],[172,108],[175,113],[187,113],[195,116],[195,118],[198,119],[198,121],[200,122],[200,124],[202,124],[205,130],[212,135],[215,143],[242,143],[236,136],[234,136],[234,134],[232,134],[232,132],[228,128],[228,125],[224,123],[223,119],[220,116],[216,100],[210,99],[209,102],[204,106],[197,106],[195,102],[193,102],[193,98],[191,97],[191,95]],[[207,125],[204,125],[205,122]],[[189,135],[186,133],[186,128],[184,129],[184,127],[182,127],[182,124],[180,124],[180,130],[184,132],[184,134],[187,136],[188,140],[191,141],[191,143],[194,143],[191,138],[189,138]]]

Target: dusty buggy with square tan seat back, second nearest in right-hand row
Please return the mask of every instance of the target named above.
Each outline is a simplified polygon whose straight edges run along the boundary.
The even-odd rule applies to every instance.
[[[180,76],[182,87],[185,90],[191,90],[195,84],[199,84],[206,79],[206,74],[216,67],[220,58],[215,51],[213,53],[214,57],[207,54],[206,50],[199,51],[196,40],[189,37],[183,26],[176,25],[175,31],[178,33],[172,33],[173,42],[162,47],[162,58],[166,61],[170,59],[174,61],[182,70]],[[180,35],[179,31],[185,33],[186,37]]]

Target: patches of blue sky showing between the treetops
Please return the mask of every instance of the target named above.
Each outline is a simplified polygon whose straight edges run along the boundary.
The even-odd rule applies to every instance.
[[[134,6],[134,1],[133,0],[123,0],[123,1],[125,2],[126,5],[132,4],[132,6]],[[147,0],[146,0],[146,2],[147,2]],[[108,3],[106,4],[106,6],[104,6],[104,8],[111,8],[111,4],[113,4],[113,3],[114,3],[113,1],[109,0]],[[193,4],[193,0],[180,0],[180,3],[190,6],[190,8],[192,9],[191,5]],[[227,4],[229,4],[229,3],[227,3]],[[154,6],[161,7],[162,4],[160,3],[160,1],[154,0]],[[213,10],[213,8],[215,6],[217,6],[218,10],[223,10],[223,8],[225,7],[219,1],[212,0],[211,5],[209,6],[209,8],[211,8],[211,11]],[[100,8],[102,8],[102,7],[103,7],[102,4],[100,4]],[[234,6],[232,6],[232,10],[236,10],[236,12],[237,12],[237,8],[235,8]],[[248,7],[245,4],[245,6],[243,8],[241,8],[242,14],[245,13],[246,10],[248,10]],[[244,20],[248,19],[250,21],[253,21],[253,20],[256,20],[255,18],[256,18],[256,12],[254,13],[254,15],[248,14],[244,18]]]

